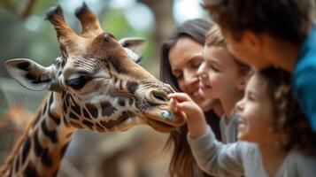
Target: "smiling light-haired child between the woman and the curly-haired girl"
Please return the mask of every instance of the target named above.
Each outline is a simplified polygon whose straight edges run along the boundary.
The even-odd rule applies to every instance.
[[[234,107],[243,97],[250,66],[240,63],[228,52],[227,42],[216,25],[206,35],[203,56],[204,61],[197,72],[199,92],[205,99],[220,99],[224,111],[220,118],[221,140],[236,142],[238,118]]]

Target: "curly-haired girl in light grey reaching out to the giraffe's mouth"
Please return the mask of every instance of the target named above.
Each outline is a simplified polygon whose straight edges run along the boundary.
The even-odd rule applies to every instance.
[[[274,67],[250,78],[237,104],[238,139],[245,142],[218,142],[188,95],[170,95],[177,100],[173,108],[188,115],[188,141],[197,164],[216,176],[315,176],[316,136],[293,99],[289,80],[289,73]]]

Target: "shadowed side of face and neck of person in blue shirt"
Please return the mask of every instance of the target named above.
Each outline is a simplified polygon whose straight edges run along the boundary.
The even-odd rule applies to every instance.
[[[262,45],[258,35],[252,32],[244,32],[242,39],[236,41],[229,30],[222,29],[222,33],[227,38],[228,50],[233,53],[235,58],[248,65],[255,66],[258,70],[265,69],[271,65],[265,60],[263,53],[260,52]]]

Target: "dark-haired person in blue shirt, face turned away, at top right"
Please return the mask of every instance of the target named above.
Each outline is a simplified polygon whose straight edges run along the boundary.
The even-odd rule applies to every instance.
[[[314,0],[204,0],[233,54],[259,70],[278,65],[316,131]]]

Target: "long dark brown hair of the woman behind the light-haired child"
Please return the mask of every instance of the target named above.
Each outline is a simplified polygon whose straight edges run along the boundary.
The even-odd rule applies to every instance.
[[[173,48],[175,43],[183,36],[189,37],[192,40],[204,45],[205,35],[212,27],[212,23],[204,19],[191,19],[184,22],[178,27],[173,34],[163,42],[161,47],[161,61],[160,61],[160,79],[170,84],[173,89],[181,91],[177,79],[173,76],[171,65],[169,62],[169,51]],[[205,112],[205,118],[208,124],[211,125],[212,130],[220,140],[220,119],[212,111]],[[212,122],[212,123],[211,123]],[[187,142],[188,129],[184,125],[179,127],[177,131],[170,133],[169,139],[166,142],[166,148],[170,148],[173,144],[173,156],[171,158],[169,171],[170,175],[181,177],[192,177],[196,173],[197,163],[193,158],[192,152]],[[202,171],[201,171],[202,173]],[[204,173],[204,176],[207,174]]]

